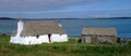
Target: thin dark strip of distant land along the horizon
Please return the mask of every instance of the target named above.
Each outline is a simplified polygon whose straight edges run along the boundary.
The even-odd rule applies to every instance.
[[[19,18],[0,17],[0,19],[17,20]],[[23,20],[55,20],[55,19],[82,19],[82,18],[23,18]],[[83,19],[131,19],[131,17],[91,17]]]

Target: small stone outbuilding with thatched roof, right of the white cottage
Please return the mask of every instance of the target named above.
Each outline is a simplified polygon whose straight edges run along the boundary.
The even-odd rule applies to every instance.
[[[117,32],[115,28],[83,28],[83,43],[116,43]]]

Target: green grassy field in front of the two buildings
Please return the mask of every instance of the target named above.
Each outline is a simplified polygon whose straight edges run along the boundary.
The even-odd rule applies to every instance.
[[[85,44],[70,39],[64,43],[20,45],[0,36],[0,56],[131,56],[131,45]]]

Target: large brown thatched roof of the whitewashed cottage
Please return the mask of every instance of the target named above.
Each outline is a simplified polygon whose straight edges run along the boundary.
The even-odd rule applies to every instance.
[[[24,24],[22,37],[37,36],[37,34],[66,34],[66,31],[59,26],[57,22],[52,20],[32,20]]]

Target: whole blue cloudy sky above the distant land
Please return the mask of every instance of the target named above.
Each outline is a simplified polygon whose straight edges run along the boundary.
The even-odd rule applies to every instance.
[[[0,0],[0,17],[131,17],[131,0]]]

